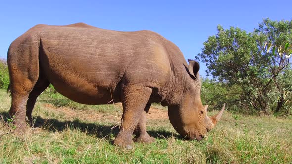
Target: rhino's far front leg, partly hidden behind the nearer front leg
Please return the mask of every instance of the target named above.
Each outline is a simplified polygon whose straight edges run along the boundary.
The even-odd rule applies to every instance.
[[[150,109],[151,104],[147,104],[140,116],[140,120],[138,125],[135,129],[136,137],[134,138],[134,142],[141,142],[141,143],[152,143],[155,141],[153,137],[151,137],[146,131],[146,124],[147,124],[147,113]]]

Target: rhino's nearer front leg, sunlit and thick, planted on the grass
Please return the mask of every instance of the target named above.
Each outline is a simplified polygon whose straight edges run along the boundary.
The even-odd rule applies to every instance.
[[[132,135],[140,120],[143,109],[146,107],[152,89],[148,87],[124,88],[122,95],[123,115],[120,132],[114,140],[114,144],[131,148]]]

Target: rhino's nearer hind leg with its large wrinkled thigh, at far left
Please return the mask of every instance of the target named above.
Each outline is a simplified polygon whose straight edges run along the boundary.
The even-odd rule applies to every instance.
[[[13,41],[7,53],[10,77],[11,107],[15,132],[25,132],[27,100],[39,79],[39,43],[35,36],[20,36]]]

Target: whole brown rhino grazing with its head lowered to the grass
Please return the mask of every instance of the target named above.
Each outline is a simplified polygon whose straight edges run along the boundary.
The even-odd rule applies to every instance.
[[[115,145],[154,139],[146,132],[151,103],[168,106],[174,129],[201,140],[224,111],[207,116],[200,98],[199,64],[161,35],[147,30],[121,32],[84,23],[36,25],[13,41],[7,54],[11,108],[17,132],[49,84],[82,104],[122,102],[123,115]]]

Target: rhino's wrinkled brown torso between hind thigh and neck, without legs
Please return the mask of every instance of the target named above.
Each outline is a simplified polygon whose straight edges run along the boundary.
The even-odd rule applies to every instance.
[[[65,26],[42,26],[37,33],[41,69],[56,90],[72,100],[80,102],[75,97],[83,95],[85,104],[97,99],[107,103],[112,97],[118,102],[125,85],[151,87],[155,98],[165,97],[173,45],[157,33]]]

